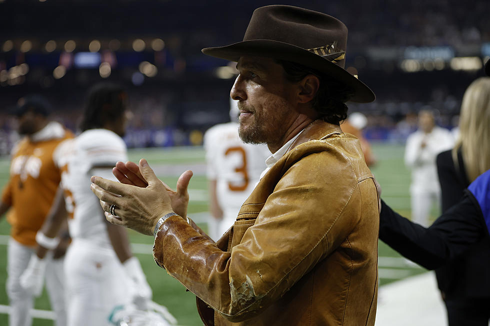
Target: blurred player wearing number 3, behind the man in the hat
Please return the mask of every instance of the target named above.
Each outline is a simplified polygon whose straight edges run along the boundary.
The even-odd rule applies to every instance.
[[[245,199],[265,169],[265,145],[245,144],[238,136],[238,101],[230,99],[231,121],[204,134],[209,189],[209,236],[219,239],[234,223]]]

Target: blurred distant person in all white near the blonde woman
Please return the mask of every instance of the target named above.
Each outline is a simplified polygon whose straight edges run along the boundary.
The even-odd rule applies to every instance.
[[[452,148],[453,144],[449,130],[435,125],[432,112],[421,110],[418,130],[408,136],[405,147],[405,165],[411,170],[411,218],[415,223],[428,226],[432,204],[439,205],[440,186],[435,158],[440,152]]]

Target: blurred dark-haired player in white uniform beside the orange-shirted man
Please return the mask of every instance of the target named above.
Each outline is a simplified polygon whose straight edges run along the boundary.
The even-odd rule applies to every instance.
[[[90,90],[82,133],[63,142],[54,153],[63,170],[63,194],[56,198],[58,209],[51,212],[41,229],[44,241],[38,242],[32,268],[21,277],[26,288],[39,288],[42,258],[67,216],[72,238],[64,266],[68,326],[109,325],[114,306],[132,301],[144,309],[151,299],[139,261],[131,254],[126,230],[107,223],[89,189],[91,174],[114,179],[112,167],[127,160],[121,138],[129,114],[126,97],[122,88],[112,84],[99,84]]]

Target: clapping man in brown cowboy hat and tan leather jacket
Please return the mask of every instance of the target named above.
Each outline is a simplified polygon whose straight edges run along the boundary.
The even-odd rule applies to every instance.
[[[240,137],[272,153],[216,243],[186,217],[190,171],[176,191],[144,159],[116,165],[121,183],[91,179],[108,221],[155,236],[156,263],[197,296],[205,325],[374,325],[377,192],[339,127],[344,102],[374,94],[343,69],[346,36],[329,15],[271,5],[242,42],[202,50],[237,61]]]

